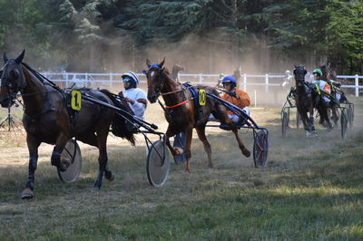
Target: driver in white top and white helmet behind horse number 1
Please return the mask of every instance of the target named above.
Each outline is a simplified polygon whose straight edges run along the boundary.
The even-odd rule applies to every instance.
[[[147,106],[146,93],[142,89],[137,88],[139,85],[139,77],[134,72],[124,72],[121,77],[123,78],[123,92],[119,95],[127,101],[136,117],[144,120],[144,112]]]

